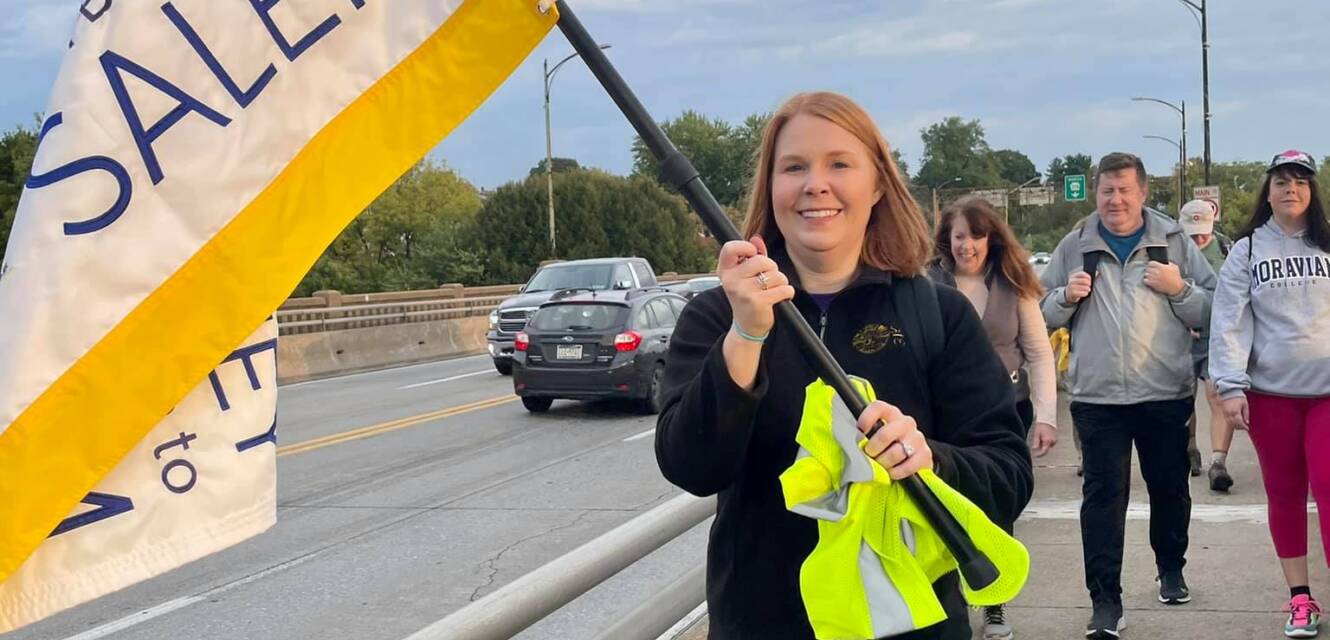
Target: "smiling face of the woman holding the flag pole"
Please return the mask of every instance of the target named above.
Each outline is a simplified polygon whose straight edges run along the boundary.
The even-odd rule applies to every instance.
[[[879,200],[878,168],[854,134],[809,114],[794,116],[781,128],[771,209],[786,246],[858,255]]]

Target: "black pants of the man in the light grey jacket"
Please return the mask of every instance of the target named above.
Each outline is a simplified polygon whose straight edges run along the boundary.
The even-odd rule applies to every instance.
[[[1132,442],[1150,496],[1154,564],[1177,571],[1186,564],[1192,520],[1186,419],[1193,398],[1138,404],[1072,403],[1083,464],[1081,548],[1092,601],[1123,599],[1123,538],[1132,482]]]

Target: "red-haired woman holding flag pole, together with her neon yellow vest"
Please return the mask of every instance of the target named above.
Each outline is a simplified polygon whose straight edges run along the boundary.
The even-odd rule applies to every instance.
[[[722,286],[676,327],[656,440],[670,482],[720,494],[712,637],[968,639],[966,600],[1015,596],[1028,563],[988,522],[1012,519],[1032,490],[1007,374],[970,303],[922,277],[927,226],[861,106],[834,93],[790,98],[763,133],[754,176],[750,241],[722,246]],[[862,393],[880,397],[858,418],[862,454],[835,451],[837,411],[821,404],[830,391],[775,322],[773,306],[787,299]],[[817,479],[835,484],[857,464],[864,482],[814,496]],[[874,494],[912,475],[982,534],[972,538],[1001,569],[994,591],[968,588],[940,560],[910,500]],[[864,499],[879,502],[858,508]],[[862,564],[870,548],[880,565]]]

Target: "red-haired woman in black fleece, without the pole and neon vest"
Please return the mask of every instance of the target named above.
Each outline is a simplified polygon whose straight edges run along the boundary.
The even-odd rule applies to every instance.
[[[818,523],[786,510],[805,389],[817,374],[773,306],[794,306],[847,373],[876,390],[864,451],[891,478],[936,474],[996,522],[1032,490],[1009,382],[964,297],[936,287],[942,350],[915,357],[896,287],[923,278],[928,228],[867,112],[803,93],[771,117],[754,170],[747,242],[721,247],[721,286],[689,302],[670,341],[656,459],[674,484],[718,494],[708,546],[710,637],[811,639],[799,568]],[[923,321],[920,321],[922,323]],[[926,353],[926,350],[924,350]],[[956,402],[963,398],[962,402]],[[934,583],[947,619],[910,639],[971,637],[956,572]]]

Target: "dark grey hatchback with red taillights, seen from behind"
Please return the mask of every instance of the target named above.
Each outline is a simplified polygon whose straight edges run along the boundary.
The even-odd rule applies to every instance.
[[[528,411],[545,411],[555,398],[632,398],[644,412],[658,412],[684,305],[664,287],[556,293],[516,337],[513,391]]]

